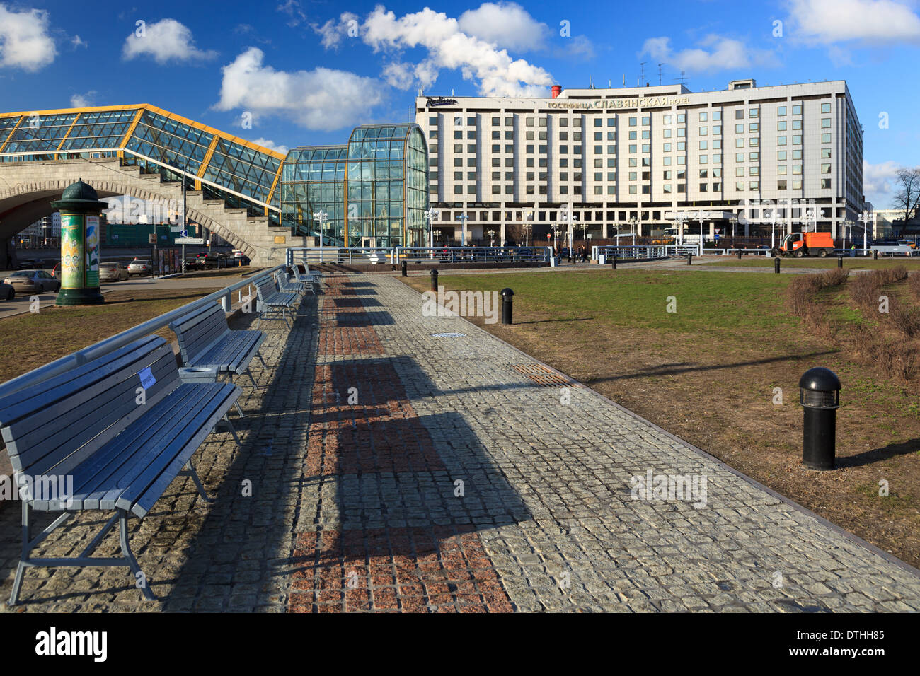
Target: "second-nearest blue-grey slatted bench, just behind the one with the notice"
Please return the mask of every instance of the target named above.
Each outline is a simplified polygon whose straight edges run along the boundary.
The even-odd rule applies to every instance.
[[[182,364],[188,367],[213,367],[218,375],[226,374],[233,380],[233,373],[246,373],[252,386],[256,379],[249,371],[249,362],[259,357],[262,366],[265,360],[259,352],[265,334],[261,331],[231,331],[227,326],[224,308],[218,304],[192,310],[169,325],[178,338],[178,349]],[[236,405],[239,410],[239,405]],[[243,411],[239,410],[242,416]]]

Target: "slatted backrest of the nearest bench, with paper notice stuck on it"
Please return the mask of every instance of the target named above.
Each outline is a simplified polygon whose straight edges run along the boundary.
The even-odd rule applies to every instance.
[[[144,390],[146,369],[155,383]],[[148,336],[0,396],[0,433],[10,463],[26,475],[67,475],[178,385],[172,349]]]

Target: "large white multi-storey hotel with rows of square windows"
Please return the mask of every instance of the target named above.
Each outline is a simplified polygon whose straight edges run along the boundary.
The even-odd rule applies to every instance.
[[[438,242],[546,243],[554,227],[566,236],[567,212],[577,239],[650,235],[681,217],[699,233],[700,212],[707,237],[837,236],[864,207],[862,129],[842,80],[420,96],[416,123]]]

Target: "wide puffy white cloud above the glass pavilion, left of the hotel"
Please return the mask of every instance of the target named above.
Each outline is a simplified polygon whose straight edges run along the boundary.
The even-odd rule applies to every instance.
[[[263,65],[256,47],[224,66],[221,98],[214,108],[242,109],[253,120],[282,115],[307,129],[334,130],[353,126],[381,102],[380,83],[346,71],[277,71]]]

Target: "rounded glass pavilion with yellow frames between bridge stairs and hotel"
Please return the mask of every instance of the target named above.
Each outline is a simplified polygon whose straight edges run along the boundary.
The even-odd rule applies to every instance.
[[[282,167],[282,225],[327,246],[427,246],[428,149],[418,125],[356,127],[346,145],[294,148]]]

